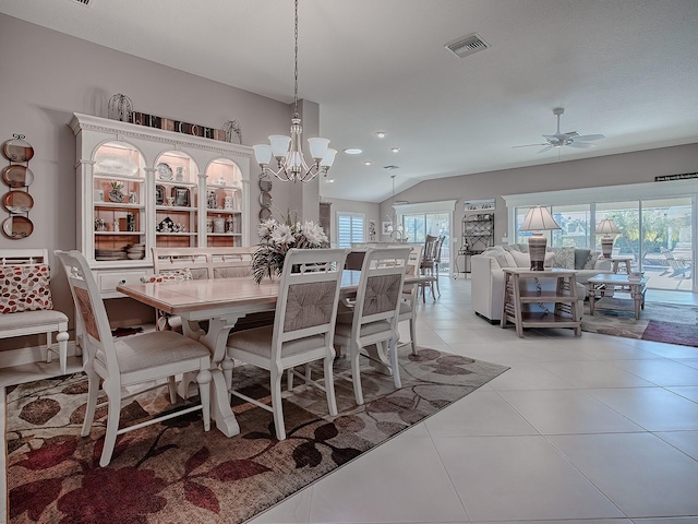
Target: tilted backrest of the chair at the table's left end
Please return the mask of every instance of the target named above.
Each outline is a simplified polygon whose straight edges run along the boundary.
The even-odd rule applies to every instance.
[[[87,260],[75,250],[57,250],[53,254],[65,270],[77,318],[83,326],[83,345],[86,346],[87,358],[94,359],[95,369],[100,376],[118,380],[119,362],[107,310]]]

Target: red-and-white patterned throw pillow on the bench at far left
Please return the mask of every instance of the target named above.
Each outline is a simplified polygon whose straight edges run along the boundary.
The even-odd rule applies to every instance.
[[[48,264],[0,265],[0,313],[53,309]]]

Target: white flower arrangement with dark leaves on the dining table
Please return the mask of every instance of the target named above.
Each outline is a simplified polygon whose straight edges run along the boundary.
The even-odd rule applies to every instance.
[[[262,278],[280,276],[286,253],[291,248],[317,249],[329,246],[321,226],[312,221],[301,222],[288,213],[284,222],[269,218],[260,224],[260,249],[252,257],[252,276],[258,284]]]

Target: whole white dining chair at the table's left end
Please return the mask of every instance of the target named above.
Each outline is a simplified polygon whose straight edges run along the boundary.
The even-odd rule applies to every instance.
[[[142,335],[118,338],[111,336],[109,319],[97,283],[85,257],[79,251],[53,251],[60,260],[75,301],[77,317],[84,330],[86,361],[83,366],[88,380],[87,407],[82,436],[89,434],[97,407],[100,379],[108,398],[107,432],[99,458],[107,466],[117,436],[160,422],[179,415],[201,409],[204,429],[210,429],[210,358],[206,346],[172,331],[156,331]],[[121,401],[133,394],[123,389],[133,384],[153,382],[179,373],[197,372],[201,404],[149,419],[145,422],[119,429]],[[171,394],[171,391],[170,391]]]

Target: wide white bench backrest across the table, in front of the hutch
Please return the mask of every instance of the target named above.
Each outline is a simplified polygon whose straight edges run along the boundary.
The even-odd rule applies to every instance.
[[[155,274],[189,270],[193,279],[252,275],[256,248],[152,248]]]

